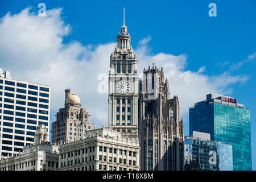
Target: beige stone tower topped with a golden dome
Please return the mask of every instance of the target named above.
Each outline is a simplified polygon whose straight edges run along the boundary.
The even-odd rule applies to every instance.
[[[56,121],[52,123],[52,142],[73,142],[85,137],[85,131],[95,129],[89,122],[89,113],[81,107],[80,98],[65,90],[65,107],[56,115]]]

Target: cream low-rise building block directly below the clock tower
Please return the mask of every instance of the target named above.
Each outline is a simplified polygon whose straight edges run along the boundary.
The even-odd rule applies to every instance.
[[[86,138],[59,148],[60,171],[138,171],[139,142],[110,127],[86,131]]]

